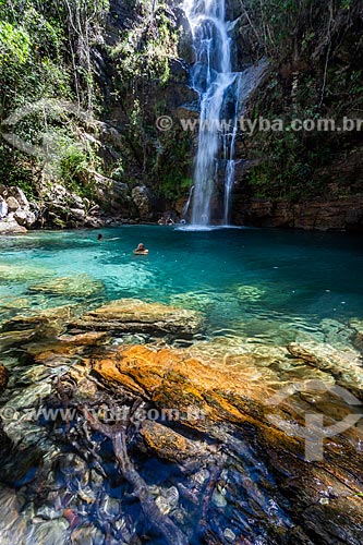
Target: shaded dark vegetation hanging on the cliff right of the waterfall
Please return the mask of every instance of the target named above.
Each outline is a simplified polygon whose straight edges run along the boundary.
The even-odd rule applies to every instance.
[[[251,55],[265,55],[271,70],[253,97],[254,118],[281,119],[282,133],[256,133],[247,143],[253,196],[331,197],[363,191],[358,170],[336,180],[335,165],[361,144],[356,132],[291,130],[293,120],[361,118],[363,108],[362,4],[359,0],[240,0],[241,27]],[[247,25],[247,31],[246,26]],[[342,165],[340,165],[341,170]]]

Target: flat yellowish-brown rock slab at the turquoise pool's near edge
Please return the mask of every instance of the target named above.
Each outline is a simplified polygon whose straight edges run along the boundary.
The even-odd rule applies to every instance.
[[[191,336],[202,330],[203,319],[193,311],[137,299],[121,299],[85,314],[72,326],[114,334]]]

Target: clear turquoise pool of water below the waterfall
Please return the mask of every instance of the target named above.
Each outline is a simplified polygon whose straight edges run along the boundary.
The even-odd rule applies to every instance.
[[[0,320],[64,303],[92,307],[138,298],[201,311],[210,336],[281,344],[302,336],[324,340],[331,320],[343,330],[350,318],[363,317],[359,235],[154,226],[102,232],[102,242],[87,230],[0,238]],[[149,249],[147,257],[132,254],[138,242]],[[105,289],[53,296],[29,291],[77,275]]]

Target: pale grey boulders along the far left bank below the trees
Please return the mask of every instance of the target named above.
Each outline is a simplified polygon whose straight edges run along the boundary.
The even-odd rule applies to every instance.
[[[97,201],[81,197],[60,184],[44,187],[28,201],[17,186],[0,185],[0,234],[24,234],[39,229],[81,229],[156,222],[153,197],[145,186],[129,192],[100,174],[96,175]]]

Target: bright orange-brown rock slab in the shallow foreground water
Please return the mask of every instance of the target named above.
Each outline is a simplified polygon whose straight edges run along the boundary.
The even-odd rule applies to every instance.
[[[261,404],[268,392],[261,382],[249,382],[241,370],[211,367],[182,350],[121,347],[95,358],[92,365],[106,383],[126,388],[158,407],[178,409],[184,415],[195,409],[202,419],[213,421],[247,420],[244,400],[251,413],[254,400]]]

